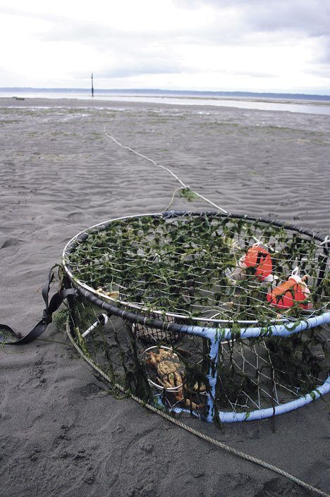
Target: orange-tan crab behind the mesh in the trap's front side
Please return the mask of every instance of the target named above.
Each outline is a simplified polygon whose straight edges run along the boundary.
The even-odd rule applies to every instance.
[[[202,405],[197,405],[192,400],[185,398],[185,367],[180,362],[176,352],[170,349],[159,348],[159,352],[147,352],[147,364],[151,364],[157,370],[157,380],[164,388],[171,388],[178,402],[183,402],[187,407],[198,409]],[[194,391],[205,391],[205,386],[197,383]]]

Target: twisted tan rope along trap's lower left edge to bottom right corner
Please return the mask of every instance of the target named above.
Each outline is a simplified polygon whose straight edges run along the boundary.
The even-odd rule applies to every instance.
[[[133,395],[133,393],[130,393],[125,388],[123,388],[123,386],[121,386],[120,384],[117,384],[117,383],[114,384],[113,381],[111,381],[111,378],[106,373],[104,373],[104,371],[102,371],[102,369],[99,368],[97,366],[97,364],[95,364],[90,359],[90,357],[88,357],[87,355],[85,355],[85,353],[82,352],[82,350],[77,345],[77,343],[75,343],[75,340],[74,340],[73,336],[71,335],[71,331],[69,329],[68,322],[66,323],[66,333],[68,335],[68,338],[70,338],[71,343],[73,343],[75,349],[79,352],[79,354],[81,355],[81,357],[86,362],[88,362],[88,364],[90,364],[90,366],[92,366],[92,368],[95,369],[95,371],[97,371],[104,379],[106,379],[106,381],[108,381],[109,384],[111,384],[112,386],[114,386],[115,388],[117,388],[119,391],[125,393],[126,395],[129,395],[130,398],[132,398],[133,400],[135,400],[139,404],[144,405],[145,407],[147,407],[148,410],[150,410],[152,412],[155,412],[157,415],[159,415],[161,417],[164,417],[164,419],[167,419],[167,421],[169,421],[169,422],[171,422],[173,424],[176,424],[178,427],[181,427],[181,428],[185,429],[186,431],[189,431],[193,435],[198,436],[199,438],[202,438],[203,440],[208,441],[209,443],[213,443],[214,446],[217,446],[217,447],[219,447],[219,448],[221,448],[223,450],[226,450],[226,452],[228,452],[228,453],[231,453],[233,455],[237,455],[239,458],[243,458],[243,459],[248,460],[250,462],[254,462],[255,464],[257,464],[259,466],[265,467],[267,470],[270,470],[270,471],[273,471],[273,472],[275,472],[277,474],[280,474],[281,477],[290,479],[295,484],[298,484],[298,485],[304,487],[305,489],[308,489],[308,490],[310,490],[310,491],[312,491],[314,493],[317,493],[319,496],[330,497],[330,495],[328,493],[325,493],[322,490],[316,489],[314,486],[305,483],[305,481],[302,481],[299,478],[294,477],[292,474],[290,474],[290,473],[288,473],[286,471],[281,470],[279,467],[271,465],[268,462],[265,462],[265,461],[263,461],[261,459],[254,458],[252,455],[245,454],[245,453],[241,452],[240,450],[237,450],[236,448],[227,446],[226,443],[220,442],[219,440],[215,440],[215,438],[212,438],[210,436],[204,435],[201,431],[197,431],[197,430],[189,427],[188,424],[185,424],[185,423],[179,421],[178,419],[175,419],[175,418],[167,415],[166,412],[163,412],[163,411],[157,409],[157,407],[154,407],[153,405],[145,403],[143,400],[141,400],[140,398],[138,398],[136,395]]]

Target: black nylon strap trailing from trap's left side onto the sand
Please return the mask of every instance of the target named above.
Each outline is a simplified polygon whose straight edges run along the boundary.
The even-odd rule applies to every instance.
[[[51,300],[49,301],[49,290],[51,286],[51,282],[54,280],[54,272],[53,269],[49,271],[49,275],[47,277],[47,280],[44,283],[44,286],[42,287],[42,297],[44,299],[44,303],[46,305],[44,312],[42,314],[42,319],[35,325],[35,327],[27,333],[27,335],[22,336],[21,333],[16,331],[16,329],[11,328],[11,326],[8,326],[6,324],[0,324],[0,330],[6,330],[11,333],[13,338],[15,340],[8,340],[1,336],[0,334],[0,343],[3,345],[23,345],[25,343],[30,343],[32,340],[35,340],[38,338],[42,333],[44,333],[45,329],[51,323],[52,321],[52,314],[55,312],[57,309],[59,309],[61,303],[63,302],[68,295],[75,295],[77,296],[77,290],[74,290],[74,288],[65,288],[63,290],[59,290],[57,293],[55,293],[52,297]]]

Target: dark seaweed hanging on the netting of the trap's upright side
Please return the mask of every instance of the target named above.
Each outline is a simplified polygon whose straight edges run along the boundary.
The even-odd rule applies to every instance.
[[[81,303],[78,303],[78,307]],[[90,308],[88,308],[90,307]],[[135,336],[131,326],[124,325],[121,319],[111,319],[107,326],[98,326],[82,345],[82,330],[95,321],[99,309],[82,306],[75,317],[79,320],[79,343],[85,353],[111,378],[111,383],[121,384],[127,391],[138,395],[145,402],[157,397],[157,392],[149,384],[145,364],[141,361],[145,345]],[[75,329],[77,332],[77,329]],[[205,393],[209,393],[207,373],[212,362],[209,359],[208,340],[200,337],[181,337],[172,343],[171,349],[178,354],[185,369],[184,398],[195,403],[202,414],[205,407]],[[263,341],[262,345],[260,345]],[[248,343],[247,343],[248,342]],[[158,347],[164,340],[159,340]],[[318,352],[315,347],[319,347]],[[277,402],[283,402],[289,392],[282,392],[281,385],[289,386],[290,395],[304,394],[317,386],[316,379],[323,379],[326,373],[324,357],[320,360],[320,350],[324,340],[317,331],[306,339],[304,333],[296,333],[291,338],[270,337],[253,340],[235,338],[221,345],[218,362],[218,382],[215,405],[217,410],[253,410],[262,408],[271,399],[271,374],[277,386]],[[242,352],[243,350],[243,352]],[[265,359],[266,357],[266,359]],[[256,360],[259,359],[259,364]],[[243,363],[245,366],[243,367]],[[152,379],[156,377],[156,373]],[[178,405],[173,393],[163,391],[162,403],[168,407]],[[281,396],[282,395],[282,396]],[[181,399],[181,405],[187,407]],[[189,407],[189,406],[188,406]]]

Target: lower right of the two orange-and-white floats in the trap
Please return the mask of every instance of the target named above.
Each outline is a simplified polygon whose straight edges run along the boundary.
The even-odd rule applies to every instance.
[[[276,286],[273,290],[267,293],[267,302],[279,309],[289,309],[296,302],[307,300],[310,297],[310,290],[307,288],[304,278],[291,275],[288,281]],[[302,309],[312,309],[312,302],[300,304]]]

